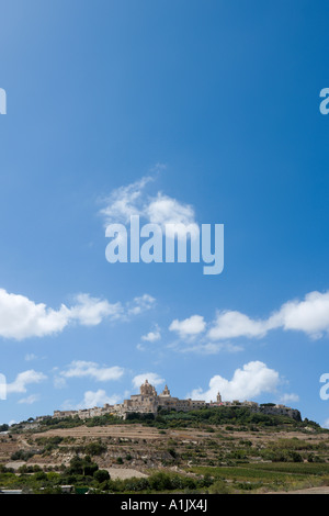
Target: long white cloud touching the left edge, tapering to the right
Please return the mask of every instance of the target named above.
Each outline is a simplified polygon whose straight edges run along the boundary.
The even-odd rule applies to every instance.
[[[22,340],[60,333],[69,324],[95,326],[103,319],[128,321],[132,315],[138,315],[155,304],[149,294],[135,298],[126,305],[86,293],[76,295],[75,301],[71,307],[61,304],[58,310],[53,310],[44,303],[0,289],[0,337]]]

